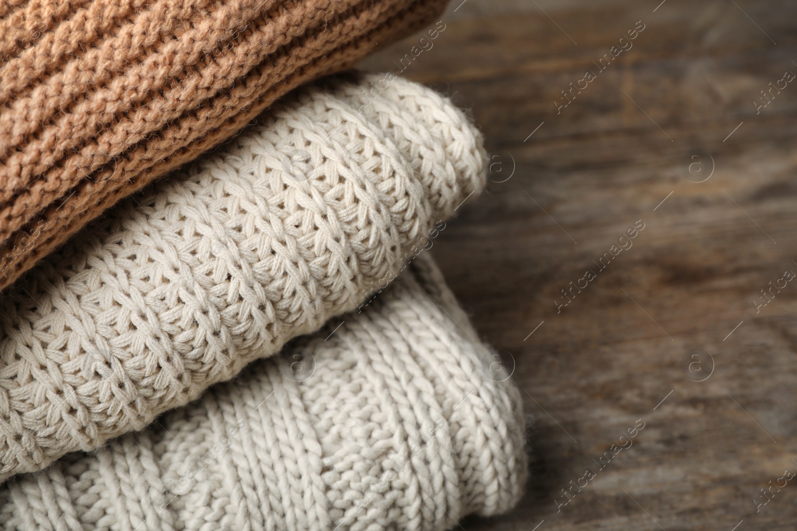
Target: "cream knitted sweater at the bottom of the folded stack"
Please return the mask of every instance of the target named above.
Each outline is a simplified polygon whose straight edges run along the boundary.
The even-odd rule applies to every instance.
[[[3,529],[414,531],[510,509],[520,393],[493,379],[428,254],[343,320],[146,431],[6,482]]]

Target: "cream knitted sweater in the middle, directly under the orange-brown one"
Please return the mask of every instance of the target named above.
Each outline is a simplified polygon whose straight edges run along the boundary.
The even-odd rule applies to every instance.
[[[0,480],[143,428],[430,245],[484,185],[481,135],[406,80],[363,106],[379,79],[286,98],[0,296]]]

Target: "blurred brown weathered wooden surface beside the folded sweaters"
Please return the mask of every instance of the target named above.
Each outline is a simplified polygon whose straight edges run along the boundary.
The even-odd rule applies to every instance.
[[[532,462],[516,510],[461,528],[794,529],[797,2],[460,2],[402,75],[493,156],[431,253],[514,360]]]

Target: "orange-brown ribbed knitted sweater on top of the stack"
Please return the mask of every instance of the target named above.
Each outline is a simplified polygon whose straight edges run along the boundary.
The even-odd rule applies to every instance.
[[[445,4],[0,2],[0,289],[121,197]]]

